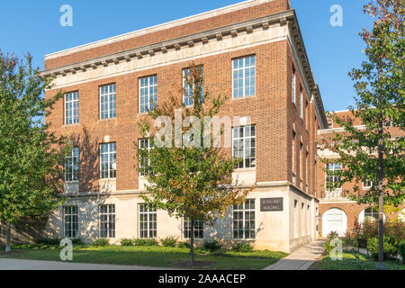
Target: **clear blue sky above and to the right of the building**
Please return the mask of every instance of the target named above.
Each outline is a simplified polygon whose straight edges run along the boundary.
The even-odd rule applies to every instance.
[[[102,40],[148,26],[217,9],[238,0],[3,0],[0,4],[0,49],[21,56],[30,51],[43,67],[46,54]],[[366,0],[291,0],[301,26],[315,81],[328,111],[354,103],[353,82],[347,76],[359,67],[365,48],[358,32],[370,27],[363,14]],[[63,4],[73,7],[73,27],[59,24]],[[343,26],[332,27],[333,4],[343,8]]]

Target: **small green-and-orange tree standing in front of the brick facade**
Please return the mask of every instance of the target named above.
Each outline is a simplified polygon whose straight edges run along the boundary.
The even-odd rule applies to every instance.
[[[211,137],[220,137],[224,132],[221,127],[213,135],[207,119],[215,117],[225,98],[202,92],[202,67],[193,63],[189,73],[184,73],[184,81],[188,89],[179,90],[184,97],[192,99],[193,106],[186,107],[173,96],[168,103],[157,107],[152,103],[155,109],[148,111],[149,119],[139,121],[139,128],[150,145],[149,148],[137,146],[137,151],[139,172],[145,174],[148,181],[147,193],[142,195],[145,202],[167,211],[170,216],[190,221],[190,265],[193,266],[195,220],[213,224],[225,216],[230,205],[245,202],[253,187],[243,189],[231,185],[232,172],[240,159],[227,156],[215,145],[215,137]],[[150,119],[157,128],[165,124],[164,128],[153,130]],[[172,130],[172,123],[176,127],[179,120],[180,130]],[[185,130],[183,123],[192,127]]]

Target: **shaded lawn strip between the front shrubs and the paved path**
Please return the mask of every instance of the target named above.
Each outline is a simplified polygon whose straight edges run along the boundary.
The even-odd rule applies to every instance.
[[[19,258],[30,260],[61,261],[60,247],[52,246],[23,246],[14,247],[14,253],[0,255],[4,258]],[[239,253],[229,250],[209,253],[197,249],[194,254],[195,261],[211,263],[198,266],[199,269],[224,270],[258,270],[274,264],[278,259],[286,257],[284,252],[268,250]],[[156,266],[173,267],[172,263],[187,261],[189,249],[179,247],[141,247],[141,246],[76,246],[73,248],[74,263],[110,264],[128,266]]]

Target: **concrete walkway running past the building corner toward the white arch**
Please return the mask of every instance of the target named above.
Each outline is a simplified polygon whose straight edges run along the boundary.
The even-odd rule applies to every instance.
[[[263,270],[308,270],[312,264],[323,256],[325,251],[324,242],[324,240],[318,240],[305,245]]]

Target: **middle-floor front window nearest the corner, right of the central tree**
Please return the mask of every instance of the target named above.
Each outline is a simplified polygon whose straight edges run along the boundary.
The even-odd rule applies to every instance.
[[[235,127],[232,133],[232,155],[242,159],[238,168],[256,167],[256,126]]]

